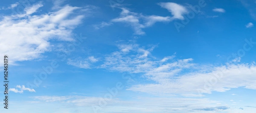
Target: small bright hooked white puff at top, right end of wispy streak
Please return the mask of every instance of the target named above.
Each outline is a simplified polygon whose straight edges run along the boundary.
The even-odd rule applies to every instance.
[[[162,8],[167,9],[169,12],[172,13],[172,19],[180,19],[183,20],[183,14],[186,14],[188,10],[186,7],[177,4],[177,3],[158,3]]]

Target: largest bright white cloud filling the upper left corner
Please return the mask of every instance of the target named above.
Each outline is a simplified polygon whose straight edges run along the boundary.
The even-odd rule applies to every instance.
[[[1,55],[9,55],[12,62],[33,60],[52,50],[54,45],[49,40],[74,41],[72,30],[81,23],[84,15],[73,12],[83,8],[66,5],[55,12],[30,15],[41,6],[36,4],[25,8],[23,14],[3,16],[0,20]]]

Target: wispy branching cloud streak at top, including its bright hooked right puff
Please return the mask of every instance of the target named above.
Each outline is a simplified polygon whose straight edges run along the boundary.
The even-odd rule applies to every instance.
[[[183,20],[183,14],[188,12],[186,6],[182,6],[177,3],[158,3],[164,9],[167,9],[171,12],[172,17],[170,16],[158,16],[158,15],[143,15],[135,12],[131,12],[128,8],[121,7],[120,5],[113,6],[119,9],[122,9],[119,17],[112,19],[110,22],[102,22],[99,25],[94,25],[95,29],[100,29],[105,26],[110,26],[112,23],[125,23],[128,26],[131,26],[134,30],[135,35],[144,35],[142,29],[150,27],[157,22],[170,22],[175,19]]]

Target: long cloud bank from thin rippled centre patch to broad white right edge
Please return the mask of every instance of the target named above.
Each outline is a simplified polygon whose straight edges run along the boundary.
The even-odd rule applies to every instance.
[[[206,67],[192,63],[192,58],[176,59],[175,56],[169,56],[156,59],[150,55],[150,49],[132,44],[124,44],[123,47],[129,49],[119,48],[119,51],[107,55],[101,68],[140,73],[141,77],[154,81],[137,84],[127,90],[156,95],[202,96],[203,93],[225,92],[238,87],[256,89],[255,63],[242,64],[237,59],[236,64]]]

